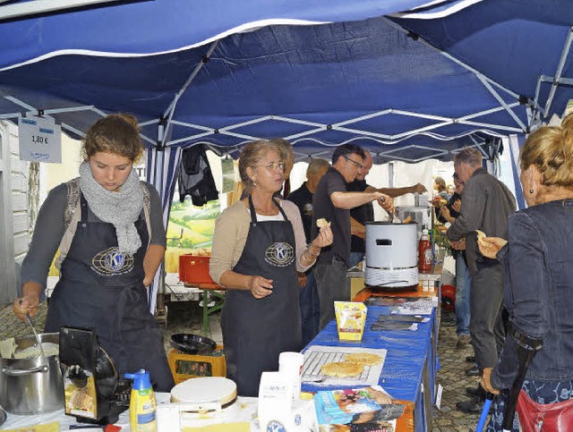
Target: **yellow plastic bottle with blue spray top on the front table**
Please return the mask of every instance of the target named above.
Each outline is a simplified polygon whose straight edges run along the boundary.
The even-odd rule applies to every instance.
[[[133,432],[157,432],[155,393],[151,386],[150,373],[140,369],[134,374],[125,374],[133,379],[129,400],[130,430]]]

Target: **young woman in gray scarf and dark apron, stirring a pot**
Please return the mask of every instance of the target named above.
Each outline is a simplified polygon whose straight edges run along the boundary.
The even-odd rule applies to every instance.
[[[165,254],[166,234],[158,192],[133,169],[143,152],[137,120],[98,120],[82,151],[80,177],[50,191],[39,210],[14,313],[34,316],[59,249],[60,280],[45,331],[93,329],[121,376],[145,368],[167,392],[173,377],[145,289]]]

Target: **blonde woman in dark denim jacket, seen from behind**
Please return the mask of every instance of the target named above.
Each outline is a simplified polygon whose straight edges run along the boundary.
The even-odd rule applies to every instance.
[[[478,241],[483,256],[498,258],[506,267],[505,306],[510,318],[498,364],[483,369],[483,388],[492,394],[502,392],[496,398],[490,431],[502,430],[507,389],[517,376],[518,358],[535,350],[518,403],[533,405],[525,410],[530,412],[560,403],[553,408],[568,410],[569,418],[573,415],[573,115],[561,126],[544,126],[532,133],[521,148],[520,160],[519,179],[529,207],[509,216],[508,241],[496,237]],[[521,413],[519,422],[522,427],[527,422]],[[512,430],[519,430],[517,417]]]

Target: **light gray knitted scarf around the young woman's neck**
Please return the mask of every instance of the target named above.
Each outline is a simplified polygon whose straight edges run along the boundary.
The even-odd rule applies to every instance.
[[[90,210],[103,222],[113,224],[119,250],[133,255],[141,247],[135,222],[143,208],[143,191],[135,170],[127,176],[119,191],[107,191],[95,181],[90,164],[80,165],[80,189]]]

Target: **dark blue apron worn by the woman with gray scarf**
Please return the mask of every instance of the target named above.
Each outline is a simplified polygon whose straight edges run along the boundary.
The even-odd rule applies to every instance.
[[[61,326],[95,330],[120,377],[144,368],[158,391],[168,392],[173,376],[143,285],[149,234],[142,216],[135,226],[141,248],[133,256],[120,253],[114,225],[89,222],[88,203],[81,196],[81,221],[49,302],[45,331],[59,332]]]

